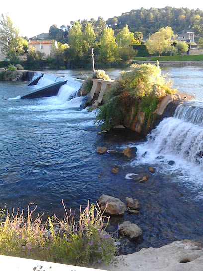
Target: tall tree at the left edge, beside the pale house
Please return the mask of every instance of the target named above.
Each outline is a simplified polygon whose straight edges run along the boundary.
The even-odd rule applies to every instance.
[[[6,17],[1,15],[0,20],[0,43],[2,51],[11,61],[17,61],[19,55],[24,52],[24,39],[19,37],[19,30],[13,26],[13,23],[8,14]]]

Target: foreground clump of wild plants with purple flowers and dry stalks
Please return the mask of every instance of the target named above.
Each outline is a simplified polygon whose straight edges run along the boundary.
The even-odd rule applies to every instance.
[[[54,215],[45,223],[43,215],[33,218],[36,207],[30,211],[32,204],[28,206],[27,218],[19,210],[12,215],[0,211],[1,254],[81,266],[112,261],[115,253],[112,237],[101,237],[104,221],[108,223],[109,217],[103,216],[98,204],[89,206],[88,202],[83,212],[80,207],[76,222],[75,212],[70,209],[68,213],[63,203],[64,220]]]

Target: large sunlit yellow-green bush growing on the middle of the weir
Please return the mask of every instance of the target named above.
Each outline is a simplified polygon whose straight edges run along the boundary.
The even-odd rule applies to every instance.
[[[100,108],[96,122],[108,130],[115,124],[122,124],[123,112],[135,103],[148,117],[156,109],[160,97],[175,92],[171,81],[161,75],[159,66],[132,64],[131,71],[123,71],[115,85],[106,90],[105,104]]]

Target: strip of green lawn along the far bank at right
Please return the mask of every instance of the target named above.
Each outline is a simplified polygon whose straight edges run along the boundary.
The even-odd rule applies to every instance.
[[[160,58],[158,56],[152,56],[152,57],[135,57],[134,60],[143,60],[143,61],[203,61],[203,55],[184,55],[183,57],[181,55],[172,55],[170,56],[161,56]]]

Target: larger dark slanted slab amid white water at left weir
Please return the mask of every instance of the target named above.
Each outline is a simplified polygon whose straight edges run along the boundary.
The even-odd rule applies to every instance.
[[[62,85],[65,85],[66,81],[60,81],[53,83],[51,85],[48,85],[46,87],[37,89],[35,92],[32,92],[30,94],[24,95],[21,97],[21,99],[35,99],[35,98],[43,98],[43,97],[50,97],[57,95],[60,87]]]

